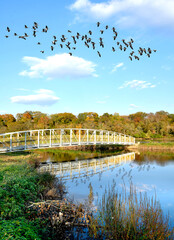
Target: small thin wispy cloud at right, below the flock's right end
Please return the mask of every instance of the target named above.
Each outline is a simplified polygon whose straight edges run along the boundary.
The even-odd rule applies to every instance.
[[[122,86],[119,87],[119,89],[122,88],[135,88],[135,89],[143,89],[143,88],[154,88],[156,85],[147,82],[147,81],[140,81],[140,80],[132,80],[132,81],[126,81]]]

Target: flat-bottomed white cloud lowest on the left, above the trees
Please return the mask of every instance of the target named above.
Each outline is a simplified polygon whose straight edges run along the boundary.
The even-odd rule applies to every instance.
[[[51,90],[40,89],[35,92],[37,94],[11,97],[11,102],[25,105],[50,106],[59,100]]]

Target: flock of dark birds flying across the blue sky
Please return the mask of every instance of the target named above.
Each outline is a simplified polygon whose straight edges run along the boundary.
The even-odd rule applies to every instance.
[[[97,22],[97,29],[100,29],[100,22]],[[29,28],[27,25],[24,25],[25,30],[27,31],[27,29]],[[38,33],[38,29],[39,29],[39,25],[37,22],[34,22],[33,26],[32,26],[32,35],[33,37],[37,37],[37,33]],[[100,35],[101,37],[99,37],[99,41],[93,41],[93,36],[94,33],[89,30],[87,34],[85,35],[81,35],[79,32],[77,32],[75,35],[72,35],[72,31],[68,30],[68,34],[71,34],[70,37],[65,36],[64,34],[61,35],[59,38],[54,35],[53,39],[51,40],[51,46],[50,49],[51,51],[55,50],[56,45],[59,46],[60,48],[65,48],[70,50],[69,55],[72,56],[73,55],[73,51],[77,49],[78,46],[78,42],[79,40],[84,42],[84,46],[87,48],[92,48],[93,50],[97,51],[97,54],[99,57],[101,57],[101,50],[99,51],[99,47],[100,48],[104,48],[105,44],[104,44],[104,38],[103,38],[103,34],[105,33],[105,31],[107,31],[109,29],[109,26],[106,25],[103,29],[100,29]],[[10,32],[11,29],[9,27],[7,27],[7,32],[8,35],[5,35],[6,38],[10,37]],[[114,40],[114,46],[111,46],[111,51],[112,52],[117,52],[117,49],[119,49],[120,51],[129,51],[129,59],[132,61],[133,58],[136,60],[140,60],[140,57],[145,54],[147,57],[150,57],[151,54],[153,52],[156,52],[157,50],[152,50],[151,48],[142,48],[139,47],[137,53],[135,52],[135,49],[133,47],[133,43],[134,40],[131,38],[130,41],[126,41],[125,39],[122,39],[120,41],[118,41],[118,32],[116,31],[115,27],[111,28],[112,33],[113,33],[113,40]],[[43,33],[47,33],[49,31],[48,26],[45,26],[44,28],[42,28],[42,32]],[[27,40],[27,38],[29,37],[28,33],[24,33],[23,35],[18,35],[16,32],[14,33],[14,36],[23,39],[23,40]],[[71,40],[70,40],[71,39]],[[37,42],[38,45],[41,45],[41,42],[38,41]],[[44,53],[45,50],[40,50],[41,53]]]

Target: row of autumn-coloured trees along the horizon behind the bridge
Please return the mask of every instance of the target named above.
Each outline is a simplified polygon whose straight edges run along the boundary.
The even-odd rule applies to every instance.
[[[174,137],[174,114],[137,112],[130,115],[95,112],[45,114],[26,111],[0,115],[0,133],[48,128],[90,128],[124,133],[137,138]]]

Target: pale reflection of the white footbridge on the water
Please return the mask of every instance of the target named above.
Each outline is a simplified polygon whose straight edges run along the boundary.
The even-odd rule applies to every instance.
[[[134,159],[135,153],[132,152],[97,159],[47,163],[40,166],[39,172],[50,172],[58,175],[63,180],[68,180],[71,178],[93,176],[94,174],[102,173],[121,164],[133,161]]]

